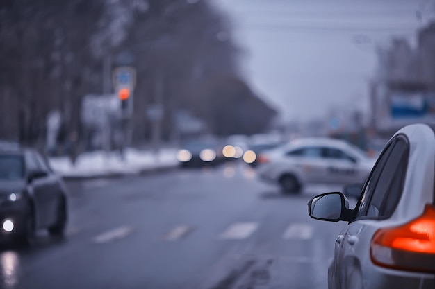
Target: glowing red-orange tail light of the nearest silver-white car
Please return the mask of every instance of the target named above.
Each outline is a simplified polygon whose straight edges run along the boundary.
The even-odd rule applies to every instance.
[[[373,263],[400,270],[435,272],[435,208],[399,227],[379,229],[370,248]]]

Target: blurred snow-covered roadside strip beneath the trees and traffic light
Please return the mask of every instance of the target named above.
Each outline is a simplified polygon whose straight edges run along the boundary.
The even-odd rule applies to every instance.
[[[117,152],[96,151],[80,155],[75,166],[69,157],[51,157],[49,162],[56,173],[65,179],[117,177],[175,168],[178,164],[176,153],[174,148],[163,148],[158,155],[150,150],[129,148],[125,160]]]

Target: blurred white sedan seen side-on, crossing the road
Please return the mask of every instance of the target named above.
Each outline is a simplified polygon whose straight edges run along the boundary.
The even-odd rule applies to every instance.
[[[375,160],[345,141],[305,138],[258,156],[257,174],[284,193],[298,193],[305,184],[364,182]]]

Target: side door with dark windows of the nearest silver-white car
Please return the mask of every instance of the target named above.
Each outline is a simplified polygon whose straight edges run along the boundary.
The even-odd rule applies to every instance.
[[[364,272],[370,261],[370,242],[381,220],[391,217],[402,195],[409,143],[397,136],[379,157],[354,210],[354,220],[336,238],[337,288],[368,288]]]

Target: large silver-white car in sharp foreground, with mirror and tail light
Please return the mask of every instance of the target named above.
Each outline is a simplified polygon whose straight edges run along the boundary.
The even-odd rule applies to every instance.
[[[435,125],[409,125],[386,144],[364,185],[309,201],[311,218],[349,222],[329,266],[332,288],[435,288]]]

